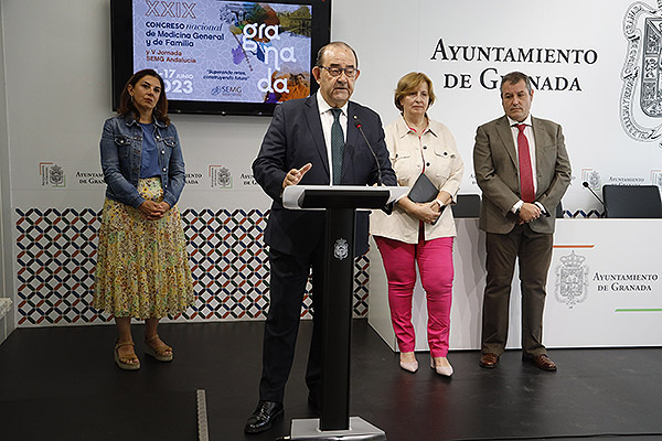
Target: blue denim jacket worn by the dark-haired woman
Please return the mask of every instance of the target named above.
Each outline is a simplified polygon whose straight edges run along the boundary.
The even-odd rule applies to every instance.
[[[163,201],[174,206],[184,187],[184,159],[171,123],[154,120],[154,141],[159,151]],[[145,202],[138,194],[142,129],[131,116],[113,117],[104,123],[102,133],[102,170],[108,185],[106,197],[135,208]]]

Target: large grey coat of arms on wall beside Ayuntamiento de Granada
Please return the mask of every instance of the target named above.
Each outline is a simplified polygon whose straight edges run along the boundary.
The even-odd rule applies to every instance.
[[[656,8],[632,3],[623,18],[623,34],[628,50],[621,72],[621,125],[630,138],[652,142],[662,137],[662,121],[655,123],[662,118],[662,0]]]

